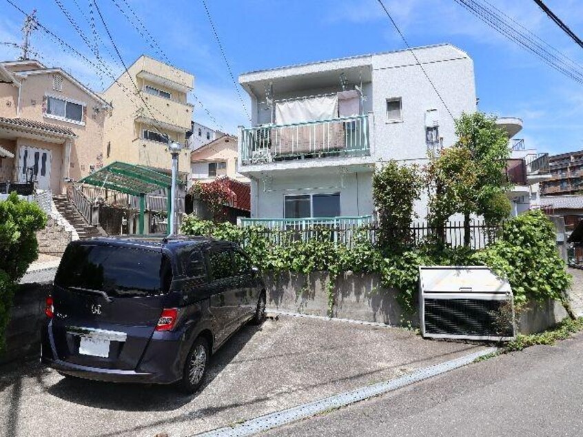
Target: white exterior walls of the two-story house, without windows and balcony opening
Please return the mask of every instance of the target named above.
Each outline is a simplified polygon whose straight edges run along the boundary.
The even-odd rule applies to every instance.
[[[459,117],[462,112],[474,112],[475,79],[471,58],[449,44],[414,50],[453,117]],[[338,186],[341,186],[336,190],[340,192],[342,216],[371,214],[374,212],[372,167],[390,159],[403,163],[427,162],[425,114],[428,110],[438,110],[439,136],[443,139],[443,145],[447,147],[455,143],[453,119],[409,51],[243,74],[240,81],[252,100],[252,124],[256,126],[271,121],[270,111],[266,110],[265,94],[262,94],[265,89],[263,84],[267,81],[274,83],[274,90],[278,87],[286,89],[286,92],[276,94],[276,99],[338,92],[339,83],[334,85],[334,78],[342,72],[342,68],[352,68],[353,72],[354,69],[367,71],[370,78],[362,83],[366,96],[363,113],[373,113],[369,126],[370,156],[279,161],[248,166],[240,164],[239,172],[253,179],[252,217],[283,218],[285,194],[334,192],[331,187]],[[331,86],[320,85],[325,72],[329,72]],[[284,83],[287,87],[281,85]],[[351,86],[354,87],[354,83]],[[388,119],[387,99],[400,99],[400,120]],[[242,156],[241,143],[239,148]],[[342,172],[344,176],[340,183]],[[420,218],[427,215],[427,196],[416,204],[416,213]]]

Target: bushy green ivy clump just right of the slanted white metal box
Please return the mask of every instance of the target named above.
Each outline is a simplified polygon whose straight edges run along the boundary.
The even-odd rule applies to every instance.
[[[530,299],[564,301],[564,291],[571,285],[555,247],[553,223],[541,211],[504,223],[502,238],[477,252],[473,260],[508,278],[518,304]]]

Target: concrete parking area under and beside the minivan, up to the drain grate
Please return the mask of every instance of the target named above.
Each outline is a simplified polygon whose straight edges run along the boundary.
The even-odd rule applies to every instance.
[[[63,378],[36,363],[0,369],[0,435],[192,435],[479,349],[402,329],[281,316],[243,327],[212,358],[194,396]]]

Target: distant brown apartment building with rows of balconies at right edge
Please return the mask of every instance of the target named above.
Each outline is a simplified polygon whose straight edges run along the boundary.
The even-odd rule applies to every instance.
[[[542,185],[545,196],[583,193],[583,150],[549,157],[551,179]]]

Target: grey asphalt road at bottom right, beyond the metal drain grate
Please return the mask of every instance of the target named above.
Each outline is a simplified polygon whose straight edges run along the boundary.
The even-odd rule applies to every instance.
[[[583,334],[449,372],[268,436],[582,436]]]

